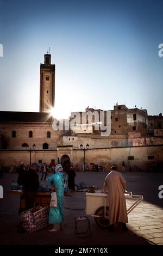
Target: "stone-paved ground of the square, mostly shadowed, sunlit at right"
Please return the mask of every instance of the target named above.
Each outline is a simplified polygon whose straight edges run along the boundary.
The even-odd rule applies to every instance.
[[[103,186],[107,173],[78,172],[76,182],[84,181],[87,185]],[[91,237],[79,238],[74,235],[74,218],[85,216],[85,193],[74,192],[72,197],[65,197],[64,230],[51,233],[48,228],[36,233],[17,233],[19,223],[17,215],[19,196],[7,194],[11,181],[17,180],[17,174],[5,174],[0,180],[4,186],[4,199],[0,200],[0,244],[1,245],[162,245],[163,244],[163,199],[158,198],[158,187],[162,185],[161,173],[123,173],[127,180],[127,190],[133,194],[142,194],[141,202],[129,215],[129,231],[122,233],[118,228],[115,233],[97,227],[91,220]],[[127,200],[127,207],[130,200]]]

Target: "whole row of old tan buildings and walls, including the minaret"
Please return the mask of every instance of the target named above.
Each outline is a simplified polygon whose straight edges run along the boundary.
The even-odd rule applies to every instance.
[[[28,164],[26,148],[33,144],[36,147],[31,153],[32,161],[39,164],[70,160],[74,167],[81,169],[84,163],[81,144],[84,148],[89,144],[86,150],[89,169],[93,163],[107,169],[114,162],[121,166],[122,161],[126,161],[128,166],[147,169],[155,162],[163,162],[162,115],[148,116],[146,109],[125,105],[115,105],[109,111],[87,108],[85,112],[71,113],[69,123],[79,117],[74,121],[73,130],[54,130],[51,110],[55,97],[55,65],[51,64],[51,54],[44,57],[44,64],[40,65],[40,112],[0,112],[1,165],[18,165],[21,161]],[[109,133],[101,126],[107,125],[107,117]]]

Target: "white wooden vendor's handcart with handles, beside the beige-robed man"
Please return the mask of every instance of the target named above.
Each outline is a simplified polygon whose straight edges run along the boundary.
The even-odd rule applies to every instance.
[[[131,205],[127,209],[129,214],[133,209],[140,204],[143,200],[143,196],[139,194],[132,194],[127,192],[126,199],[131,200]],[[95,217],[96,224],[101,228],[107,228],[109,226],[109,206],[106,203],[105,193],[86,193],[86,214]]]

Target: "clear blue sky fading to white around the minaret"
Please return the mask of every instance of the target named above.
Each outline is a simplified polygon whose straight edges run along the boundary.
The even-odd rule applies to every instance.
[[[0,111],[39,112],[51,47],[60,118],[116,102],[163,112],[162,10],[161,0],[0,0]]]

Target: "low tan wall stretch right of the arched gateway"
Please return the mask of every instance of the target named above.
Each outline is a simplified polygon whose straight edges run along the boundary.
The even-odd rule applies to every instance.
[[[89,149],[85,153],[86,163],[91,168],[90,163],[98,163],[105,169],[109,169],[116,163],[121,169],[122,162],[126,162],[127,168],[141,168],[148,170],[155,162],[163,162],[163,145],[145,146],[145,147],[126,147],[126,148],[108,148],[108,149]],[[128,160],[128,157],[134,156],[134,160]],[[154,156],[153,160],[148,156]],[[73,161],[78,162],[79,166],[84,162],[84,152],[80,150],[73,151]],[[136,168],[138,167],[138,168]]]

